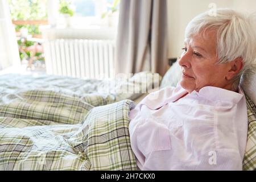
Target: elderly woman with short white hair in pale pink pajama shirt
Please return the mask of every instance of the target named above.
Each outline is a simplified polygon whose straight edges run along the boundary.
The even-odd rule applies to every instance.
[[[139,169],[242,169],[247,111],[239,83],[256,58],[254,24],[253,17],[229,9],[189,22],[181,81],[130,111]]]

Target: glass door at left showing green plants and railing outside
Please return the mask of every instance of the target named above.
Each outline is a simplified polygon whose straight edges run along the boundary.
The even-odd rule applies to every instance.
[[[40,26],[48,24],[47,0],[9,0],[21,63],[31,71],[44,71],[44,52]]]

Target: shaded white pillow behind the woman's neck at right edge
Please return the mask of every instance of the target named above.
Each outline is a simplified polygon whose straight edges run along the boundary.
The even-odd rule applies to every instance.
[[[243,74],[240,85],[245,94],[256,105],[256,65],[253,65],[246,74]]]

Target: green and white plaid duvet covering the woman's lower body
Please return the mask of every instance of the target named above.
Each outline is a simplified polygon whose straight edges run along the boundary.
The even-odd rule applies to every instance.
[[[128,130],[132,101],[94,107],[46,90],[12,97],[0,106],[0,170],[137,169]]]

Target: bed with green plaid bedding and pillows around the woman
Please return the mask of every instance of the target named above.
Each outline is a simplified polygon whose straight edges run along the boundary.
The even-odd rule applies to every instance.
[[[180,77],[176,67],[164,75],[160,88],[176,85]],[[114,83],[0,76],[0,170],[137,170],[128,115],[147,95],[141,91],[152,92],[152,85],[161,80],[149,77],[145,84],[140,78],[147,74],[152,73]],[[123,86],[139,92],[117,92]],[[256,169],[256,107],[250,98],[246,95],[249,131],[244,170]]]

